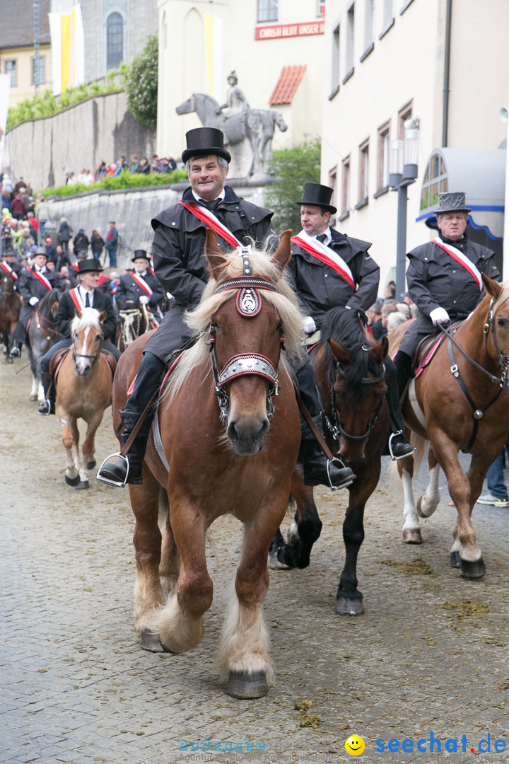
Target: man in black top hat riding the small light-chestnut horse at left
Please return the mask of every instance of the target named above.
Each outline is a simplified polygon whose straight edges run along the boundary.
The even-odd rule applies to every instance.
[[[98,261],[90,258],[79,262],[79,285],[73,289],[64,292],[60,297],[58,308],[55,315],[55,329],[62,335],[62,339],[56,342],[46,354],[43,355],[40,362],[40,374],[44,387],[44,400],[40,403],[38,413],[49,415],[55,413],[56,390],[54,384],[51,384],[50,361],[62,348],[70,348],[71,324],[79,311],[84,308],[95,308],[100,313],[106,312],[105,320],[102,322],[102,340],[101,349],[109,351],[118,361],[121,352],[106,337],[113,335],[117,327],[117,319],[114,314],[113,303],[111,299],[98,290],[100,277]],[[48,391],[50,394],[48,395]]]

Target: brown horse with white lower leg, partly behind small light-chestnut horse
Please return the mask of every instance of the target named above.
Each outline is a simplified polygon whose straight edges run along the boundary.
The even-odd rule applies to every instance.
[[[37,303],[27,326],[27,352],[32,370],[32,389],[30,400],[44,400],[44,388],[40,377],[40,361],[43,354],[60,339],[53,319],[60,300],[61,292],[52,289]]]

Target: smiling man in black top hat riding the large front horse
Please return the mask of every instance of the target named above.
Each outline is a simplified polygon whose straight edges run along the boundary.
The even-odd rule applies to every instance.
[[[165,209],[152,221],[152,244],[156,276],[163,288],[172,293],[174,303],[164,316],[156,333],[145,346],[143,361],[138,370],[134,390],[121,411],[124,424],[122,442],[133,431],[141,413],[159,387],[165,362],[177,350],[192,342],[189,329],[183,321],[185,309],[199,303],[208,282],[205,261],[207,226],[217,232],[217,242],[223,251],[236,246],[232,235],[243,244],[252,238],[263,244],[273,234],[272,212],[244,201],[230,186],[224,186],[230,154],[224,148],[224,135],[216,128],[196,128],[186,134],[187,148],[182,152],[191,183],[182,195],[182,201]],[[226,238],[225,238],[226,237]],[[314,397],[317,397],[314,390]],[[123,458],[108,458],[98,473],[99,479],[122,485],[142,481],[142,465],[150,434],[152,417],[147,416]],[[304,446],[304,448],[303,448]],[[304,461],[304,479],[312,484],[324,482],[337,487],[350,483],[353,473],[349,468],[329,464],[314,437],[301,444]]]

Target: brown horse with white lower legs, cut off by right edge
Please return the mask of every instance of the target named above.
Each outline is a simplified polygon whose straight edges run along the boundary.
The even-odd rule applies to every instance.
[[[398,461],[404,491],[403,540],[420,544],[419,517],[429,517],[440,501],[440,467],[458,513],[453,530],[451,565],[466,578],[482,578],[486,566],[475,540],[472,510],[488,467],[501,453],[509,432],[509,284],[482,274],[487,292],[452,338],[445,337],[433,361],[412,379],[403,415],[413,431],[417,453],[430,442],[430,479],[424,496],[414,503],[414,459]],[[405,326],[391,335],[390,351],[398,349]],[[424,440],[423,440],[424,439]],[[459,450],[472,454],[468,475],[459,464]]]

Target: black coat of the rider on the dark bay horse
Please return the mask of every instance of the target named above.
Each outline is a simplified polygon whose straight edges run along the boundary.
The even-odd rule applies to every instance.
[[[292,259],[287,272],[294,283],[304,316],[311,316],[320,328],[327,310],[337,307],[368,309],[379,290],[380,268],[369,256],[369,241],[351,238],[330,229],[329,248],[340,255],[352,271],[354,290],[336,270],[292,243]]]

